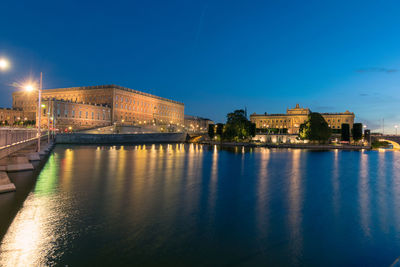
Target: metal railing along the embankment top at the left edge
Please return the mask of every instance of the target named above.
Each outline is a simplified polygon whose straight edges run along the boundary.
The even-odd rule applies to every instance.
[[[0,149],[35,138],[37,138],[36,129],[0,128]]]

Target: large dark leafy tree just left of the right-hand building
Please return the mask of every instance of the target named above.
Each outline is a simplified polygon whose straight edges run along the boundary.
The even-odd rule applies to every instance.
[[[255,136],[255,134],[256,126],[246,118],[246,112],[244,110],[235,110],[227,115],[223,139],[229,141],[243,141]]]

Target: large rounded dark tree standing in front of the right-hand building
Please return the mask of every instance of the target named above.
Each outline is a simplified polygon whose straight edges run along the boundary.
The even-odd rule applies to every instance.
[[[317,112],[311,112],[304,125],[300,125],[299,136],[303,140],[326,142],[331,136],[331,129],[328,123]]]

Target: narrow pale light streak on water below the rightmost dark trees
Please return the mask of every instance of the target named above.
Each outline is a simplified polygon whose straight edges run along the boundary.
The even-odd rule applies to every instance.
[[[371,194],[369,188],[369,176],[368,176],[368,154],[361,153],[360,156],[360,177],[358,179],[358,194],[359,194],[359,202],[360,202],[360,219],[361,219],[361,227],[364,231],[364,235],[371,236],[370,232],[370,199],[369,196]]]

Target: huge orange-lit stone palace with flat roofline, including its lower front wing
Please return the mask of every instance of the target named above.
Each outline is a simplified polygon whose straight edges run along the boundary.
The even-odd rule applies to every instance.
[[[22,112],[18,117],[36,120],[37,99],[37,92],[14,92],[13,110]],[[44,125],[50,116],[60,128],[183,124],[184,104],[118,85],[100,85],[42,90],[40,114]]]

